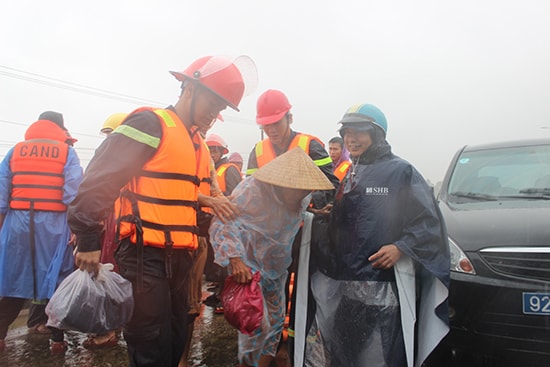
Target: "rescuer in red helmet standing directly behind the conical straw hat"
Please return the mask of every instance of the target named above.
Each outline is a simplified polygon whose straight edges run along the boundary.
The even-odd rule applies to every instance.
[[[275,157],[292,148],[300,147],[309,155],[334,187],[338,187],[340,181],[332,172],[332,160],[321,140],[313,135],[296,132],[290,128],[290,124],[293,122],[292,113],[290,112],[291,107],[286,95],[279,90],[268,89],[260,95],[256,104],[256,122],[266,133],[267,138],[258,142],[254,149],[252,149],[252,152],[250,152],[246,174],[251,175]],[[312,193],[311,204],[307,210],[317,216],[327,216],[332,208],[334,193],[335,190],[314,191]],[[292,244],[292,263],[288,268],[289,276],[285,287],[288,300],[291,274],[295,273],[291,308],[288,311],[290,316],[288,335],[290,337],[293,336],[293,314],[297,291],[296,271],[299,261],[301,233],[300,229]],[[286,304],[288,305],[288,302]],[[309,304],[313,303],[310,302]],[[289,339],[288,349],[291,360],[293,358],[293,346],[293,339]]]

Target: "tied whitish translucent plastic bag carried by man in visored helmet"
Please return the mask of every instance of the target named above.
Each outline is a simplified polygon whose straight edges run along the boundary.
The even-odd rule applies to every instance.
[[[47,326],[84,333],[105,333],[130,320],[132,284],[101,264],[97,277],[75,270],[56,289],[46,306]]]

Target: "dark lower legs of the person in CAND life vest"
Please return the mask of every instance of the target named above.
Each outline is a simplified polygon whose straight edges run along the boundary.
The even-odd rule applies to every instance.
[[[3,297],[0,298],[0,339],[5,339],[8,334],[8,328],[15,321],[19,312],[23,309],[25,298]],[[45,313],[46,305],[33,305],[29,313],[27,325],[32,327],[40,322],[45,323],[48,318]],[[32,322],[32,323],[31,323]],[[64,339],[63,330],[50,327],[52,331],[51,339],[54,342],[62,342]]]

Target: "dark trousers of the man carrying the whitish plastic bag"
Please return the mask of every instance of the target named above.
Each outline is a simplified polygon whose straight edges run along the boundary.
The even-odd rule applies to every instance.
[[[170,263],[164,249],[146,246],[142,286],[138,287],[136,246],[121,241],[116,253],[120,274],[132,282],[134,311],[124,328],[130,366],[176,367],[187,340],[188,282],[191,255],[173,250]],[[172,275],[167,277],[166,267]]]

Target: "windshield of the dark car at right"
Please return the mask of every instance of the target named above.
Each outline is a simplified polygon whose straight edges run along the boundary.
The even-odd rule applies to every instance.
[[[465,151],[457,160],[448,192],[462,197],[511,199],[536,192],[548,195],[550,145]]]

